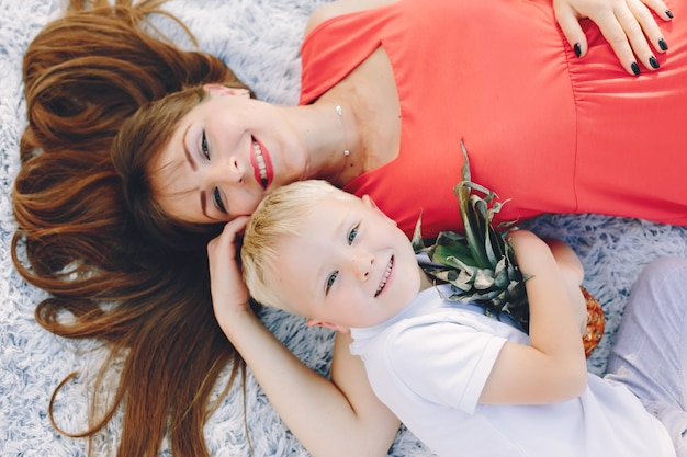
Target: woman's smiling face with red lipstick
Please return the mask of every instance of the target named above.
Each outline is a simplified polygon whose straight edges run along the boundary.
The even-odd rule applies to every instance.
[[[173,219],[216,224],[250,215],[270,188],[302,175],[302,153],[272,105],[223,85],[180,122],[153,161],[151,180]]]

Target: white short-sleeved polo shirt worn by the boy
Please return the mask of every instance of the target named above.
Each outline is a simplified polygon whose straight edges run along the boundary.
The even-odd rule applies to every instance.
[[[424,290],[399,315],[351,329],[372,389],[439,456],[674,457],[665,427],[624,386],[593,374],[584,393],[545,405],[478,404],[511,324]]]

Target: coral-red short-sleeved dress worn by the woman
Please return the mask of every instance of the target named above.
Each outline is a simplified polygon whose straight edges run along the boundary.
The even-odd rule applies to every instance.
[[[311,103],[383,46],[402,110],[396,160],[350,183],[407,232],[460,230],[453,186],[509,199],[498,220],[597,213],[687,225],[687,5],[658,20],[661,69],[621,68],[597,26],[577,58],[551,0],[401,0],[322,23],[302,46]]]

